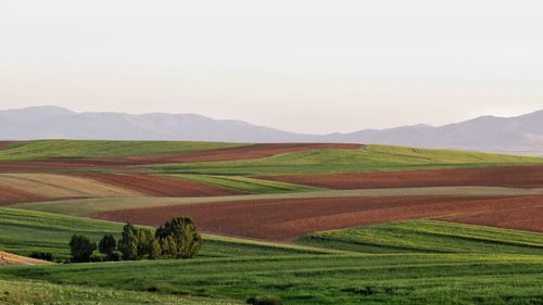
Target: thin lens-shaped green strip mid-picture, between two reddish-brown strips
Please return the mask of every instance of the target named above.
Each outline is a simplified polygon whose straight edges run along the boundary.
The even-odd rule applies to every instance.
[[[315,187],[253,179],[240,176],[210,176],[210,175],[165,175],[165,176],[212,185],[216,187],[240,190],[253,194],[307,192],[307,191],[320,190],[319,188]]]

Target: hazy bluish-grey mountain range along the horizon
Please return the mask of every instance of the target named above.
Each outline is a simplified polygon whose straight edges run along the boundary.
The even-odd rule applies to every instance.
[[[543,154],[543,111],[481,116],[444,126],[415,125],[348,134],[295,134],[195,114],[76,113],[58,106],[0,111],[0,139],[194,140],[228,142],[359,142],[417,148]]]

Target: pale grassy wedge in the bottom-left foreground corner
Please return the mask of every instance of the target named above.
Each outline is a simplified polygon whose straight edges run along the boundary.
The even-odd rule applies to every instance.
[[[182,305],[236,305],[241,302],[203,297],[179,297],[150,292],[135,292],[104,288],[52,284],[40,281],[0,280],[0,304],[182,304]]]

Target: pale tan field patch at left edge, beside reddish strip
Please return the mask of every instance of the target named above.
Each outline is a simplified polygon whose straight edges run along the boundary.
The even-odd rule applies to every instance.
[[[47,199],[139,195],[90,179],[50,174],[0,174],[0,186]]]

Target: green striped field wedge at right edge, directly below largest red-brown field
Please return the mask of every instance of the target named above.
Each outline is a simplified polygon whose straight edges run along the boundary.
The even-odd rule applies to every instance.
[[[543,234],[433,220],[315,232],[301,244],[364,253],[517,253],[543,256]]]

